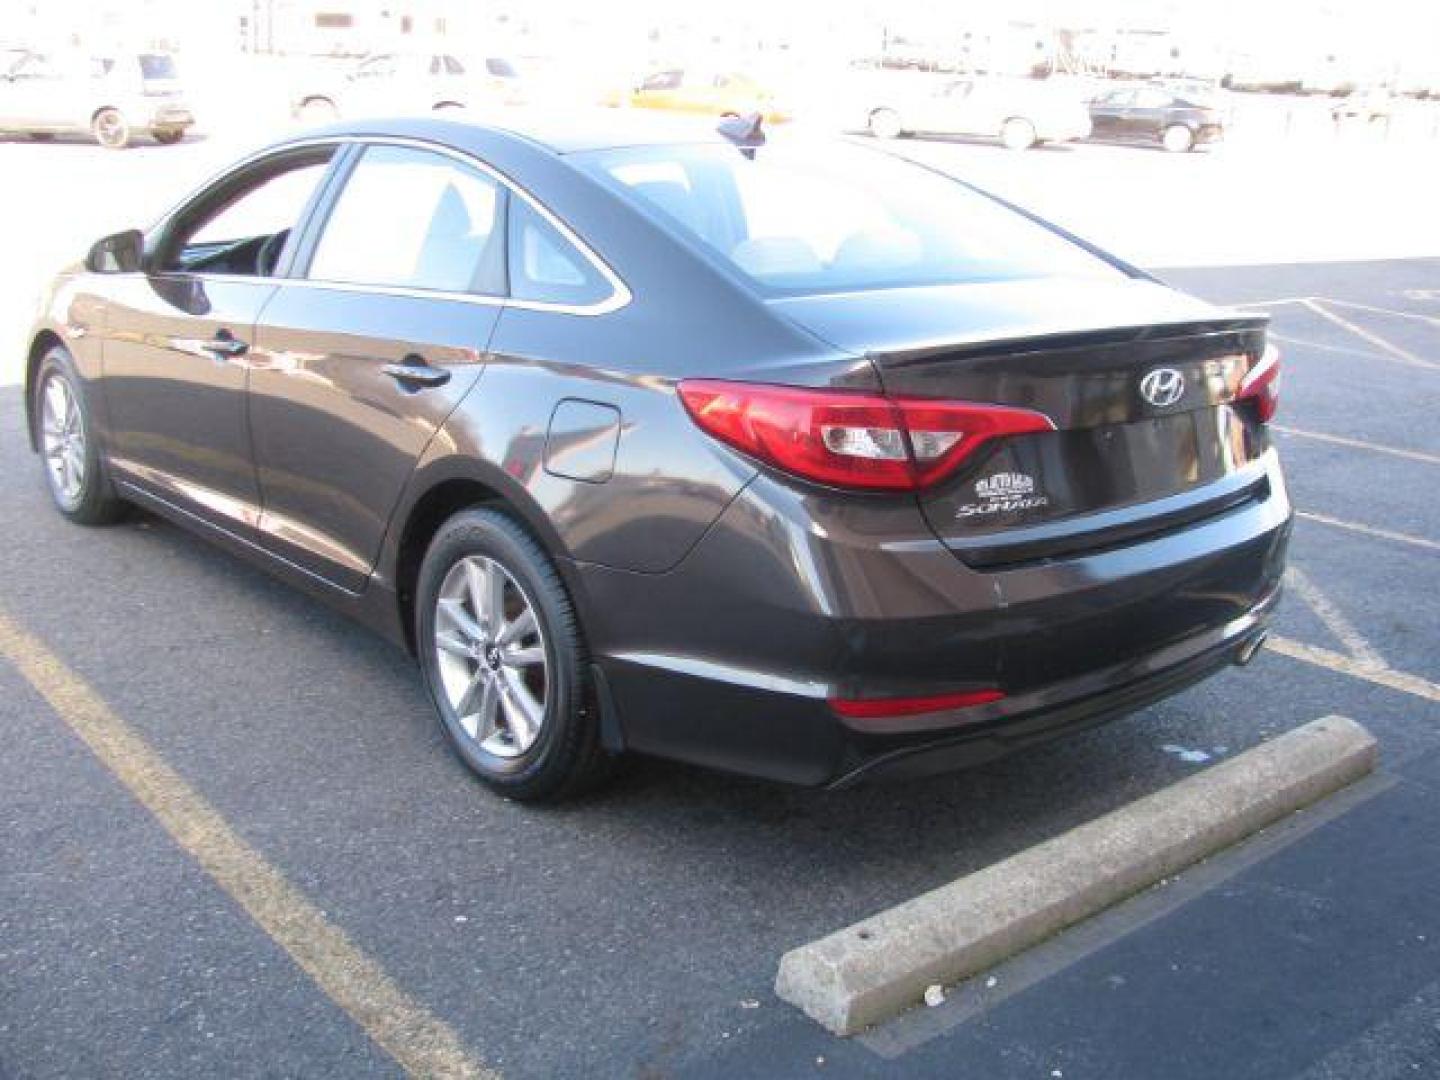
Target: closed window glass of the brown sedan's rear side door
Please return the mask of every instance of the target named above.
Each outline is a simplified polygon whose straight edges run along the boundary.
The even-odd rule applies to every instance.
[[[500,184],[425,150],[369,147],[346,180],[307,276],[501,295]]]

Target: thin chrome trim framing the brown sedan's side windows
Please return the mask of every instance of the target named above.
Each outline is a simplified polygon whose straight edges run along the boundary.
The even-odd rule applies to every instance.
[[[490,297],[478,292],[446,292],[442,289],[422,289],[405,285],[366,285],[350,281],[318,281],[314,278],[274,278],[274,276],[258,276],[249,274],[206,274],[203,271],[193,274],[186,274],[184,271],[163,271],[156,276],[187,276],[187,278],[199,278],[202,281],[248,281],[256,284],[292,285],[300,288],[328,289],[333,292],[360,292],[366,295],[382,295],[382,297],[408,297],[413,300],[451,300],[451,301],[458,301],[461,304],[477,304],[480,307],[508,307],[508,308],[518,308],[523,311],[552,311],[562,315],[586,315],[586,317],[608,315],[612,311],[619,311],[626,304],[629,304],[631,300],[634,300],[634,294],[629,291],[629,287],[625,284],[621,275],[616,274],[611,268],[611,265],[605,262],[605,259],[602,259],[595,252],[593,248],[590,248],[590,245],[588,245],[583,239],[580,239],[580,236],[576,235],[576,232],[569,225],[556,217],[544,203],[541,203],[539,199],[530,194],[530,192],[527,192],[518,183],[511,180],[498,168],[490,166],[485,161],[481,161],[478,157],[468,154],[464,150],[456,150],[442,143],[431,143],[423,138],[410,138],[408,135],[330,135],[324,138],[297,140],[294,143],[285,143],[284,145],[278,147],[266,147],[265,150],[261,150],[255,154],[251,154],[249,157],[242,158],[223,173],[217,173],[206,184],[199,187],[187,199],[184,199],[180,204],[177,204],[173,210],[170,210],[170,213],[167,213],[166,217],[163,217],[161,220],[168,220],[170,217],[173,217],[177,212],[183,210],[197,197],[204,194],[219,180],[230,176],[232,173],[239,173],[240,170],[248,168],[252,164],[265,160],[266,157],[275,154],[285,154],[292,150],[305,150],[308,147],[325,147],[325,145],[333,145],[337,148],[341,145],[408,147],[410,150],[423,150],[441,154],[442,157],[454,158],[455,161],[459,161],[467,167],[480,170],[485,176],[491,177],[495,183],[503,184],[505,190],[510,192],[513,196],[524,199],[534,209],[536,213],[539,213],[546,222],[549,222],[554,228],[554,230],[559,232],[560,236],[564,238],[564,240],[570,246],[573,246],[580,253],[580,256],[585,258],[585,261],[589,262],[596,272],[599,272],[602,278],[605,278],[606,284],[611,287],[611,295],[606,297],[605,300],[595,301],[593,304],[559,304],[544,300],[516,300],[513,297]],[[140,271],[137,271],[137,274],[138,272]]]

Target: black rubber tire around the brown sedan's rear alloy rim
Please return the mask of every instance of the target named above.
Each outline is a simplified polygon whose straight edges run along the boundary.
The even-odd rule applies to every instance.
[[[498,564],[510,579],[510,586],[503,588],[517,589],[539,624],[546,664],[543,721],[533,744],[507,755],[487,750],[478,734],[467,732],[441,671],[436,624],[442,586],[467,559]],[[425,688],[451,747],[481,780],[513,799],[559,802],[609,773],[612,757],[600,746],[589,658],[575,606],[549,556],[513,517],[475,508],[445,521],[425,553],[415,592],[415,642]],[[485,661],[477,657],[474,662],[478,670]],[[504,717],[505,710],[498,714]]]

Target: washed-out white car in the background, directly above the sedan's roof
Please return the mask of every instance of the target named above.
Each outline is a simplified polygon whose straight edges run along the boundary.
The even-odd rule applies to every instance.
[[[325,124],[340,117],[520,105],[524,98],[520,72],[503,56],[467,60],[444,52],[387,52],[367,56],[340,78],[302,86],[291,112],[297,120]]]

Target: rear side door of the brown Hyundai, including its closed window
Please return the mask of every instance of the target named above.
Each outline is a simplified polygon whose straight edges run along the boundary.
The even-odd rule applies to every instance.
[[[265,307],[249,416],[261,543],[357,590],[415,462],[484,370],[507,194],[438,150],[350,154]]]

